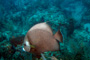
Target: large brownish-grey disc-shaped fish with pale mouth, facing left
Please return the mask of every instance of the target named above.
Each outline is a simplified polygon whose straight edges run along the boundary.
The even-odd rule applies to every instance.
[[[23,50],[39,56],[47,51],[60,50],[58,41],[63,43],[63,36],[60,30],[53,34],[47,22],[38,23],[32,26],[25,35]]]

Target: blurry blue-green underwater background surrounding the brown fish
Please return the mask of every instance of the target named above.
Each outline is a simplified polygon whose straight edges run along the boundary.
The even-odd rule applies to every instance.
[[[64,40],[61,51],[44,53],[47,60],[90,60],[90,0],[0,0],[0,60],[35,59],[14,43],[33,25],[47,21]]]

